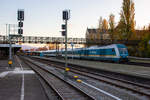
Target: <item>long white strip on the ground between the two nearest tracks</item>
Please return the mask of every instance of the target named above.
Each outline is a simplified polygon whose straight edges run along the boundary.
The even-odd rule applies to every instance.
[[[104,93],[104,94],[106,94],[106,95],[108,95],[108,96],[110,96],[110,97],[116,99],[116,100],[122,100],[122,99],[120,99],[120,98],[118,98],[118,97],[116,97],[116,96],[114,96],[114,95],[112,95],[112,94],[110,94],[110,93],[108,93],[108,92],[106,92],[106,91],[104,91],[104,90],[101,90],[101,89],[99,89],[99,88],[97,88],[97,87],[95,87],[95,86],[93,86],[93,85],[90,85],[90,84],[88,84],[88,83],[86,83],[86,82],[83,82],[83,81],[82,81],[82,83],[85,84],[85,85],[87,85],[87,86],[89,86],[89,87],[91,87],[91,88],[94,88],[94,89],[96,89],[96,90],[98,90],[98,91],[100,91],[100,92],[102,92],[102,93]]]

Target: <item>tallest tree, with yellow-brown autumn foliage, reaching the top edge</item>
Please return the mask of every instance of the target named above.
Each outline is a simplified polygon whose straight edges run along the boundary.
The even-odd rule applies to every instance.
[[[120,13],[118,24],[119,38],[129,40],[135,31],[135,9],[132,0],[123,0],[123,6]]]

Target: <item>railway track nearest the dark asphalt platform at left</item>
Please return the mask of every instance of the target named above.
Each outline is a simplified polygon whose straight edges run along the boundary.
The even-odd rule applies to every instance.
[[[56,92],[58,100],[95,100],[94,97],[89,96],[79,88],[66,82],[63,77],[58,77],[57,75],[59,75],[59,73],[54,74],[54,71],[52,72],[49,69],[42,68],[29,61],[25,61],[25,63],[38,73],[38,75]]]

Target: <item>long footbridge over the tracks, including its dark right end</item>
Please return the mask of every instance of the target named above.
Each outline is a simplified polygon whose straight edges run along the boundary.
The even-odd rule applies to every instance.
[[[0,36],[0,43],[8,43],[8,37]],[[13,37],[11,39],[12,43],[40,43],[40,44],[49,44],[49,43],[57,43],[57,44],[64,44],[65,38],[64,37],[37,37],[37,36],[22,36],[22,37]],[[125,45],[132,45],[136,46],[140,40],[88,40],[86,38],[68,38],[68,44],[87,44],[87,45],[108,45],[113,43],[121,43]]]

